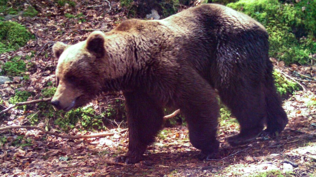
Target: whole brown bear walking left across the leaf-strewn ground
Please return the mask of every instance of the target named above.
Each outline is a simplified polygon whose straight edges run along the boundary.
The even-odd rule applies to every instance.
[[[287,115],[276,93],[268,56],[268,33],[252,18],[204,4],[163,20],[126,20],[88,39],[56,43],[58,88],[52,105],[68,111],[101,92],[123,91],[129,145],[116,160],[137,163],[163,123],[163,108],[180,109],[201,158],[213,158],[216,91],[240,123],[231,145],[281,132]]]

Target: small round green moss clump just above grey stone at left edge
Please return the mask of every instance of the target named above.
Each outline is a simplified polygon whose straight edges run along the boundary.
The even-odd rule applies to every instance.
[[[20,57],[14,57],[5,62],[2,70],[1,74],[7,76],[21,76],[23,72],[27,71],[26,64]]]

